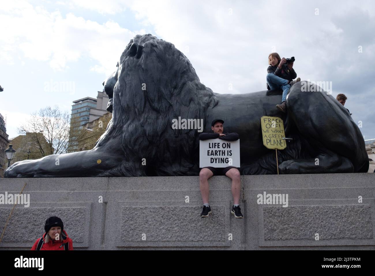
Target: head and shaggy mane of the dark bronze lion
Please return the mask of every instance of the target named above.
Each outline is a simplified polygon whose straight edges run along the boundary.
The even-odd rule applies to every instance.
[[[169,170],[165,175],[189,175],[196,163],[192,154],[197,154],[197,131],[172,129],[172,119],[205,120],[205,110],[217,101],[187,57],[172,43],[150,34],[136,35],[103,85],[113,118],[95,148],[121,135],[123,163],[140,164],[145,158],[145,175],[163,175],[160,170]],[[122,175],[129,168],[117,170]]]

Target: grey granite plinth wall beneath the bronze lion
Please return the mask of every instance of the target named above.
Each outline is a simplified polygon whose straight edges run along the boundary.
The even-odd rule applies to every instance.
[[[30,207],[15,207],[0,250],[30,249],[49,216],[75,250],[375,249],[372,173],[241,176],[244,219],[230,213],[226,176],[209,179],[213,213],[203,219],[198,176],[5,178],[0,194],[25,182]],[[288,207],[258,204],[264,192],[288,195]],[[0,235],[12,207],[0,204]]]

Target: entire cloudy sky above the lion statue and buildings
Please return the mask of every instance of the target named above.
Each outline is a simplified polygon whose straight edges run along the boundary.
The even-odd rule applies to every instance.
[[[96,98],[129,40],[145,33],[172,42],[217,93],[265,90],[269,53],[295,56],[297,76],[332,81],[365,139],[375,138],[374,1],[0,0],[0,26],[10,138],[31,112],[57,104],[70,113],[72,101]]]

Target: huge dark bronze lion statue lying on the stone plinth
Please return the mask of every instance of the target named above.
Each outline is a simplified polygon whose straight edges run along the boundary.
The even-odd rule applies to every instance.
[[[150,34],[130,40],[103,85],[113,117],[93,149],[19,161],[5,177],[199,175],[199,133],[173,129],[178,117],[203,119],[205,132],[213,119],[223,119],[225,132],[240,135],[242,174],[277,171],[275,151],[263,146],[261,116],[282,118],[286,136],[293,138],[278,153],[281,173],[367,172],[369,167],[358,126],[331,95],[303,92],[299,82],[282,113],[275,108],[281,91],[214,93],[181,51]]]

